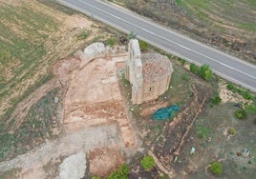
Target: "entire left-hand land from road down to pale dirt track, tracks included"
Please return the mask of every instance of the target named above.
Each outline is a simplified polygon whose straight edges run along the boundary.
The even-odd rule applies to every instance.
[[[73,10],[35,0],[0,0],[0,31],[3,161],[61,133],[64,90],[54,78],[53,65],[110,33]]]

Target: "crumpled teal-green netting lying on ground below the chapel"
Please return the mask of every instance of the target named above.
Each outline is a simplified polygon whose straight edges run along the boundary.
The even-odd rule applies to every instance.
[[[152,116],[153,120],[166,120],[170,119],[174,116],[175,112],[177,112],[180,108],[176,105],[158,109]]]

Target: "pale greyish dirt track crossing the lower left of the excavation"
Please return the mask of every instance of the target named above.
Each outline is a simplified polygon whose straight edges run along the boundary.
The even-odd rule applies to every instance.
[[[88,152],[91,149],[117,146],[121,144],[115,124],[82,129],[58,139],[48,141],[41,147],[32,149],[26,154],[0,163],[1,171],[21,169],[14,178],[44,178],[42,169],[49,161],[61,156],[69,156],[79,151]],[[40,177],[38,177],[40,176]]]

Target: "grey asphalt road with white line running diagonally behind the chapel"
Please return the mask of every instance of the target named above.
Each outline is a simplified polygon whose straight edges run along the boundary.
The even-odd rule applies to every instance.
[[[215,50],[173,30],[169,30],[138,14],[98,0],[58,0],[61,4],[81,11],[124,32],[135,32],[161,50],[173,53],[198,65],[207,64],[223,78],[256,91],[256,66]]]

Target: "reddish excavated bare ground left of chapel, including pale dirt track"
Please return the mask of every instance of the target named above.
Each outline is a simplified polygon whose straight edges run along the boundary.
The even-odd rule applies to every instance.
[[[54,66],[53,80],[34,91],[13,115],[24,118],[27,108],[49,90],[61,87],[65,92],[60,121],[66,134],[0,163],[1,171],[21,169],[16,174],[18,178],[45,177],[43,168],[49,161],[81,150],[89,154],[93,174],[104,176],[124,162],[123,152],[136,149],[137,139],[117,83],[117,69],[124,65],[127,53],[117,50],[115,54],[107,51],[97,56],[79,51],[74,58],[63,59]]]

